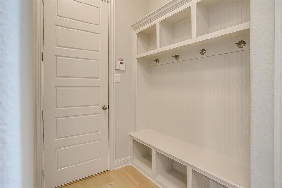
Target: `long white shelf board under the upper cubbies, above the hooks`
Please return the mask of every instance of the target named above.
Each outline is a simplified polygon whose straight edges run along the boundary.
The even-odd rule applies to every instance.
[[[188,50],[191,48],[195,48],[197,46],[207,45],[216,43],[219,41],[224,41],[236,37],[246,36],[250,34],[250,22],[245,22],[243,24],[235,25],[229,28],[225,28],[219,31],[215,31],[212,33],[204,34],[192,39],[188,39],[185,41],[181,41],[175,44],[167,45],[155,50],[147,51],[141,54],[138,54],[136,58],[141,57],[157,57],[161,55],[165,55],[171,52]]]

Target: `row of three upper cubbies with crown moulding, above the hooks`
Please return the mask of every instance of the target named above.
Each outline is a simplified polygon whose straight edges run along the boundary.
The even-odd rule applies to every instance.
[[[249,35],[250,0],[172,0],[132,28],[136,58],[157,58]]]

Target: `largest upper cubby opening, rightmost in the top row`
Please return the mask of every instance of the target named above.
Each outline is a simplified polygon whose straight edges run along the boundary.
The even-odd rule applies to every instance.
[[[196,6],[196,35],[250,21],[250,0],[202,0]]]

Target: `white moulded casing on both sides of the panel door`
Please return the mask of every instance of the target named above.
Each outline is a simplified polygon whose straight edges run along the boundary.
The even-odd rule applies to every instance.
[[[115,0],[109,3],[109,170],[115,169]],[[34,1],[35,186],[44,187],[43,168],[43,2]]]

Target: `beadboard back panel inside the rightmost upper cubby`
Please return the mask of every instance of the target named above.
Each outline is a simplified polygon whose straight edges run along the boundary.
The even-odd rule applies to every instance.
[[[210,7],[210,32],[250,21],[250,1],[234,0]]]

